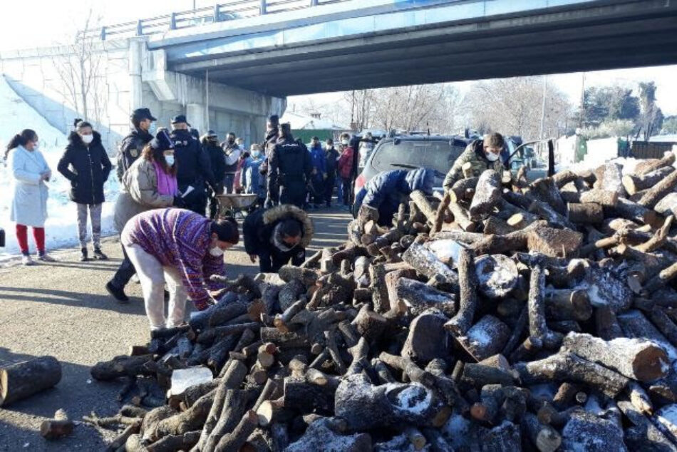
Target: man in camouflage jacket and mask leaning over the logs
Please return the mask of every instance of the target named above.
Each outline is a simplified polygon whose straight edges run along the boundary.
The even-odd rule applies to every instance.
[[[477,177],[485,170],[495,170],[502,174],[504,165],[501,151],[505,140],[500,133],[486,135],[483,140],[474,140],[467,145],[444,178],[444,191],[448,192],[457,180]]]

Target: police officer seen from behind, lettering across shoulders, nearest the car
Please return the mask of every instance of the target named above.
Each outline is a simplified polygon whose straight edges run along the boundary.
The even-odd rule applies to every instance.
[[[310,153],[304,143],[294,141],[289,123],[280,124],[279,133],[269,158],[269,185],[279,186],[280,204],[293,204],[302,209],[313,170]]]

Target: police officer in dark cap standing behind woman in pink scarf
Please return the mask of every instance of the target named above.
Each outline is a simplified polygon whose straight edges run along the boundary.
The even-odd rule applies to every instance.
[[[174,143],[176,178],[179,191],[183,193],[186,208],[200,215],[205,215],[207,205],[205,183],[208,183],[212,190],[216,192],[222,191],[217,188],[210,158],[202,149],[200,142],[188,130],[185,115],[177,115],[172,118],[170,138]]]

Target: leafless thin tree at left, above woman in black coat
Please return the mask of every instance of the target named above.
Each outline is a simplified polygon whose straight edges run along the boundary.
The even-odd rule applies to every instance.
[[[105,93],[100,91],[103,74],[103,54],[97,47],[98,40],[86,33],[95,27],[99,19],[93,19],[93,10],[86,16],[82,31],[68,43],[59,47],[53,56],[53,65],[58,73],[63,102],[85,120],[100,123],[105,112]]]

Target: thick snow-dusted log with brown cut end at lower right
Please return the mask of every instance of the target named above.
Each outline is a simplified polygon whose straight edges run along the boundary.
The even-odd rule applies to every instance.
[[[666,374],[668,356],[651,341],[619,338],[611,341],[590,334],[569,333],[564,348],[589,361],[639,381],[659,379]]]

